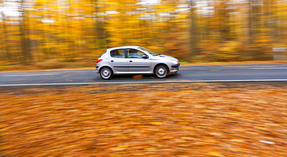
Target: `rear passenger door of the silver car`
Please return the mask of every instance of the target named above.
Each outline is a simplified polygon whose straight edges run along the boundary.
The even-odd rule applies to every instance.
[[[108,56],[110,65],[117,71],[129,71],[124,49],[114,49]]]

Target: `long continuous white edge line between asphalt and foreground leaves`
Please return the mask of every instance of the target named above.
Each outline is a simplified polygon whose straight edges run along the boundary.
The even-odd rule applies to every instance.
[[[90,83],[54,83],[54,84],[1,84],[0,86],[65,86],[65,85],[93,85],[93,84],[148,84],[148,83],[190,83],[190,82],[262,82],[287,81],[287,79],[265,80],[200,80],[200,81],[143,81],[143,82],[90,82]]]

